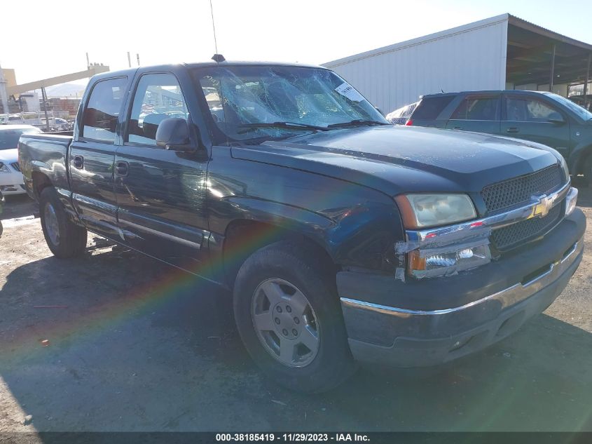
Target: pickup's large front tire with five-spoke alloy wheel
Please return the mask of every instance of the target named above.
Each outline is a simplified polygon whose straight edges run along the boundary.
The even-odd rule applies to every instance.
[[[333,389],[355,370],[335,275],[318,257],[289,241],[263,247],[240,267],[233,294],[238,332],[255,363],[306,393]]]

